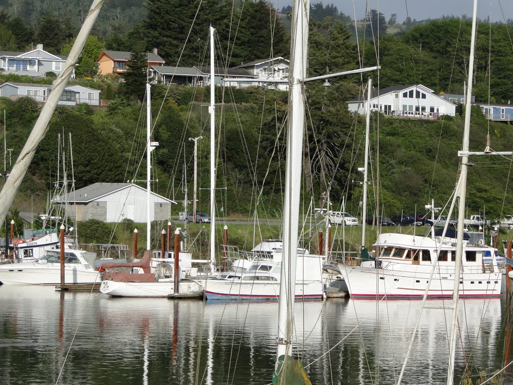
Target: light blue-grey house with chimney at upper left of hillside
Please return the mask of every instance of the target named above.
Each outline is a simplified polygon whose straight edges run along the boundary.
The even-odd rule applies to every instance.
[[[54,55],[43,49],[43,44],[28,52],[0,51],[0,67],[4,73],[17,75],[45,76],[47,72],[60,74],[66,63],[67,56]],[[74,78],[73,70],[71,77]]]

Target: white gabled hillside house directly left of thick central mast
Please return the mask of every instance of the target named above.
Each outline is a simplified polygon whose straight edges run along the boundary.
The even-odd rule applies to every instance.
[[[252,85],[270,87],[271,84],[280,90],[288,90],[288,74],[290,62],[283,57],[273,57],[272,59],[255,60],[250,63],[241,64],[235,68],[243,68],[257,76],[260,80],[266,82],[257,82]],[[269,83],[269,80],[287,80],[285,83]]]

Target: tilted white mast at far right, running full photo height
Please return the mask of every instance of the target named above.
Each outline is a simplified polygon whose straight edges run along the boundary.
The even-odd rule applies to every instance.
[[[468,151],[468,139],[470,136],[470,101],[472,99],[472,77],[474,72],[474,49],[476,43],[476,24],[477,24],[477,0],[474,0],[474,6],[472,11],[472,33],[470,36],[470,57],[468,61],[468,87],[467,94],[465,97],[465,126],[463,130],[463,144],[462,151]],[[456,267],[455,267],[455,278],[454,278],[454,291],[452,294],[452,326],[450,330],[449,340],[449,367],[447,372],[447,385],[454,383],[454,362],[456,353],[456,335],[457,335],[457,324],[458,324],[458,300],[460,297],[460,275],[461,265],[463,258],[463,228],[465,221],[465,196],[467,186],[467,163],[468,156],[462,156],[461,158],[461,172],[460,181],[457,196],[459,199],[458,209],[458,227],[456,237]]]

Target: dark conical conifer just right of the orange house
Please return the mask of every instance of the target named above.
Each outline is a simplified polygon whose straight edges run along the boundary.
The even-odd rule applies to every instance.
[[[123,76],[123,93],[127,98],[144,100],[146,85],[146,68],[148,67],[148,54],[143,51],[144,43],[135,44],[127,70]]]

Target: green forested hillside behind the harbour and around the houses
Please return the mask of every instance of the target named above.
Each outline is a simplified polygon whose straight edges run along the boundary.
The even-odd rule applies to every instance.
[[[43,7],[49,11],[22,12]],[[55,4],[62,3],[57,9]],[[80,3],[80,2],[79,2]],[[87,4],[85,4],[87,3]],[[102,19],[94,35],[89,37],[81,61],[76,67],[78,84],[101,89],[101,99],[111,101],[107,109],[58,107],[50,129],[34,158],[16,204],[27,209],[34,201],[41,207],[47,191],[55,181],[57,163],[57,133],[72,133],[75,187],[94,182],[144,180],[145,171],[139,168],[144,157],[144,106],[141,103],[139,78],[96,74],[95,58],[102,49],[127,50],[136,54],[154,47],[165,57],[166,65],[202,64],[206,54],[206,36],[210,23],[215,23],[216,42],[221,52],[220,66],[248,62],[263,57],[285,55],[289,49],[287,16],[276,17],[263,1],[237,3],[237,22],[230,23],[231,3],[208,3],[215,17],[200,12],[188,43],[186,35],[195,9],[191,2],[177,0],[147,0],[144,9],[133,9],[129,17],[109,16],[112,12],[129,12],[135,2],[106,2]],[[45,49],[67,54],[73,42],[78,22],[89,2],[1,1],[6,13],[0,15],[0,44],[3,50],[21,50],[31,42],[43,43]],[[54,7],[54,8],[52,8]],[[117,7],[117,8],[116,8]],[[132,8],[130,8],[132,7]],[[31,10],[33,8],[30,8]],[[169,12],[174,9],[174,12]],[[371,66],[379,62],[382,69],[372,74],[374,84],[423,84],[436,93],[463,93],[468,66],[470,22],[456,18],[408,25],[400,33],[391,34],[397,20],[391,17],[388,27],[373,33],[372,23],[384,18],[371,11],[368,22],[358,24],[363,33],[356,41],[354,29],[336,8],[312,8],[309,41],[309,74],[320,75]],[[60,12],[58,16],[56,13]],[[37,15],[42,15],[37,19]],[[82,15],[82,16],[81,16]],[[317,15],[317,16],[315,16]],[[314,20],[313,16],[317,18]],[[37,20],[36,20],[37,19]],[[215,20],[214,20],[215,19]],[[367,24],[366,24],[367,23]],[[235,28],[234,26],[238,26]],[[270,28],[273,26],[273,29]],[[379,23],[378,23],[379,25]],[[271,33],[272,31],[272,33]],[[477,101],[508,103],[513,100],[513,48],[508,36],[511,26],[479,25],[474,94]],[[270,35],[273,35],[271,46]],[[360,51],[359,51],[360,50]],[[139,55],[139,57],[142,57]],[[145,63],[144,57],[141,62]],[[132,59],[135,67],[135,59]],[[4,81],[45,82],[52,79],[27,79],[0,74]],[[346,102],[358,97],[360,76],[330,79],[309,83],[308,131],[304,160],[305,202],[313,197],[320,201],[330,185],[330,199],[356,215],[360,210],[361,173],[363,166],[363,120],[348,112]],[[139,87],[134,90],[134,87]],[[144,90],[143,90],[144,92]],[[208,90],[203,88],[163,85],[152,86],[154,140],[160,146],[153,152],[154,189],[176,201],[184,199],[184,186],[192,199],[193,143],[188,138],[203,136],[199,142],[200,187],[207,188],[208,175]],[[164,96],[166,98],[164,98]],[[226,187],[218,194],[218,208],[223,213],[249,215],[255,206],[264,207],[266,215],[279,215],[282,210],[284,174],[284,127],[287,93],[250,87],[226,89],[217,108],[222,119],[218,122],[218,186]],[[40,111],[34,101],[20,98],[13,102],[0,99],[0,110],[6,110],[7,143],[13,149],[13,159],[23,146]],[[479,110],[473,112],[471,149],[482,150],[489,132],[492,148],[509,150],[513,138],[510,125],[489,124]],[[445,202],[454,187],[457,171],[457,151],[461,146],[463,118],[460,116],[437,121],[392,119],[378,114],[372,117],[372,192],[379,187],[380,211],[386,215],[413,213],[423,210],[431,199]],[[379,141],[378,141],[379,138]],[[379,155],[379,157],[378,157]],[[379,161],[379,167],[377,162]],[[473,161],[473,160],[472,160]],[[473,161],[474,162],[474,161]],[[144,162],[143,162],[144,163]],[[512,197],[507,194],[509,163],[507,160],[475,161],[469,172],[469,213],[486,211],[492,218],[513,214]],[[378,178],[379,170],[379,178]],[[378,180],[379,179],[379,180]],[[186,182],[185,182],[186,181]],[[379,181],[379,183],[378,183]],[[208,207],[208,193],[199,190],[200,208]],[[503,207],[504,202],[504,207]],[[181,210],[177,208],[176,211]]]

